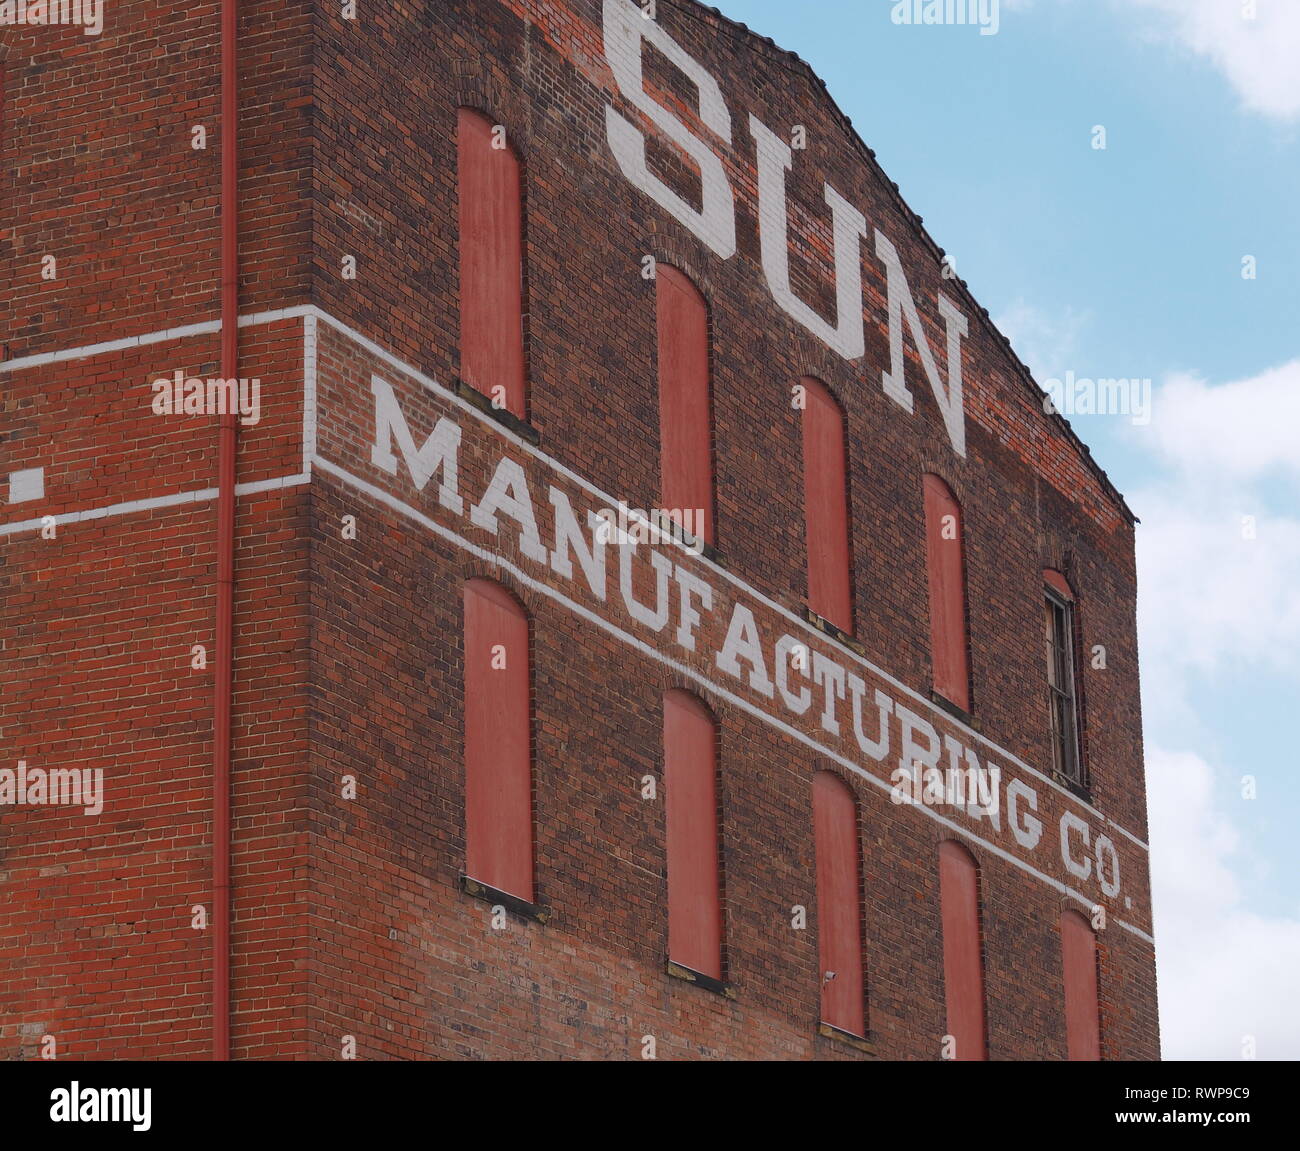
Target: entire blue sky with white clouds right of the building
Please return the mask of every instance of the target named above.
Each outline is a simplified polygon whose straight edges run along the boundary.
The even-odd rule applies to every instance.
[[[716,3],[826,79],[1040,382],[1152,381],[1149,424],[1072,423],[1143,520],[1165,1057],[1300,1059],[1300,0],[1002,0],[996,35]]]

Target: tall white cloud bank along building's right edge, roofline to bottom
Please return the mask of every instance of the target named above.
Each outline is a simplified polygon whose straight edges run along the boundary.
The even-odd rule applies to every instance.
[[[1158,468],[1132,506],[1166,1059],[1242,1059],[1248,1037],[1260,1059],[1300,1059],[1300,919],[1249,909],[1268,867],[1236,827],[1245,809],[1228,814],[1245,801],[1227,765],[1170,748],[1195,744],[1214,684],[1300,683],[1297,428],[1300,360],[1219,385],[1171,376],[1127,433]],[[1283,791],[1253,802],[1287,801],[1277,773],[1261,786]]]

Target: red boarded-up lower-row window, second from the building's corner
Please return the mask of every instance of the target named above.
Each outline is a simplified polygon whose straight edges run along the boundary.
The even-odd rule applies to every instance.
[[[663,775],[668,823],[668,959],[723,977],[718,882],[718,726],[689,692],[663,697]]]

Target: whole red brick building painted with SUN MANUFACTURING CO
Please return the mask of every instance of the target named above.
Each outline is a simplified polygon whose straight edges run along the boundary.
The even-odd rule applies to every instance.
[[[1157,1057],[1134,518],[809,66],[234,7],[0,27],[0,1053]]]

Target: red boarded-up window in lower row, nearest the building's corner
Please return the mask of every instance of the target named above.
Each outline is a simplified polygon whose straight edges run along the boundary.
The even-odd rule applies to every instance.
[[[533,901],[528,616],[500,584],[465,584],[465,873]]]

